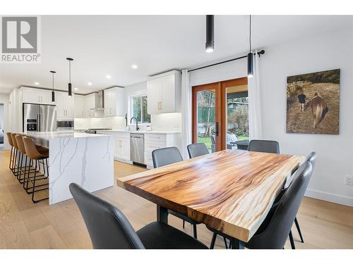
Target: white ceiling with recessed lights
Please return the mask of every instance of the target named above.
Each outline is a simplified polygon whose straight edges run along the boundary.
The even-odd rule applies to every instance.
[[[253,48],[353,25],[352,15],[253,15]],[[143,82],[148,75],[190,68],[249,49],[249,16],[215,16],[215,51],[205,53],[203,15],[43,15],[42,62],[0,63],[0,92],[20,85],[67,89],[73,61],[73,87],[88,93]],[[132,64],[138,65],[133,70]],[[107,79],[105,75],[111,75]],[[92,86],[88,86],[92,82]]]

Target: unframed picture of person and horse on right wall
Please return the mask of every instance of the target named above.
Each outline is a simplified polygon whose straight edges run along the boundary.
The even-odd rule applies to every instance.
[[[339,132],[340,69],[287,77],[287,133]]]

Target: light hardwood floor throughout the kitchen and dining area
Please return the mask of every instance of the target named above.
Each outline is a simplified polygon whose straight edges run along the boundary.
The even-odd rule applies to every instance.
[[[85,223],[73,199],[49,206],[47,201],[32,203],[8,169],[8,151],[0,151],[0,249],[91,249]],[[115,177],[145,170],[114,162]],[[138,230],[155,220],[155,204],[119,187],[95,194],[119,209]],[[305,243],[292,228],[297,249],[353,249],[353,208],[304,198],[298,214]],[[169,216],[169,224],[183,230],[182,221]],[[191,225],[184,232],[192,234]],[[212,234],[198,225],[198,239],[210,245]],[[224,249],[217,238],[216,249]],[[289,241],[285,246],[290,249]]]

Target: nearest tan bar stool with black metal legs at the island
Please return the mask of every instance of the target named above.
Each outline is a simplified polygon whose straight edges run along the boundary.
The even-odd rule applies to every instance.
[[[46,188],[35,190],[35,187],[47,185],[47,184],[41,184],[41,185],[36,186],[35,181],[42,180],[42,179],[37,179],[37,177],[40,176],[40,175],[37,175],[37,168],[39,166],[40,161],[43,161],[43,165],[44,165],[44,161],[45,161],[46,167],[47,167],[47,176],[49,176],[49,167],[48,167],[48,161],[47,161],[47,158],[49,158],[49,149],[47,149],[45,151],[43,150],[43,152],[40,153],[37,150],[37,147],[35,146],[35,142],[33,142],[32,138],[22,137],[22,140],[23,140],[23,144],[25,145],[25,153],[27,153],[28,158],[30,158],[35,163],[35,170],[33,173],[33,178],[31,179],[30,177],[28,177],[28,181],[32,183],[32,202],[37,203],[39,201],[46,200],[49,198],[49,197],[47,197],[47,198],[35,200],[35,192],[43,191],[44,189],[49,189],[48,187],[46,187]]]

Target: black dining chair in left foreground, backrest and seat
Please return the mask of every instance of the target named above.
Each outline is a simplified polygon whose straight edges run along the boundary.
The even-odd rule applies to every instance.
[[[137,232],[121,210],[71,183],[90,234],[93,249],[208,249],[205,244],[163,222],[151,222]]]

